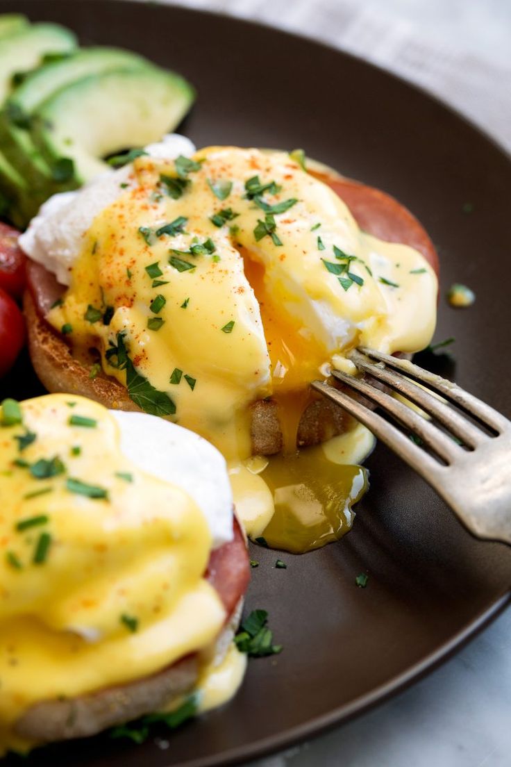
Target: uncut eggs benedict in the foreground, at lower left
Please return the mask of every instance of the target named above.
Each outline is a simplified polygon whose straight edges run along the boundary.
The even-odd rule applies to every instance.
[[[248,561],[220,453],[70,394],[0,415],[0,753],[233,696]]]

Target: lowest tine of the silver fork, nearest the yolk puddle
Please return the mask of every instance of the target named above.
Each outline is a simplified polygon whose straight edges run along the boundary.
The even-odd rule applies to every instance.
[[[408,439],[393,424],[382,418],[378,413],[375,413],[374,410],[369,410],[368,407],[362,405],[358,400],[353,400],[346,392],[325,384],[324,381],[313,381],[310,385],[313,389],[324,394],[329,400],[332,400],[346,410],[347,413],[360,421],[360,423],[363,423],[364,426],[367,426],[378,439],[381,439],[385,445],[394,450],[401,459],[408,463],[412,469],[415,469],[424,479],[430,481],[437,477],[439,472],[445,470],[444,466],[441,466],[434,458],[425,453],[424,450],[421,450],[420,447],[415,445],[411,439]]]

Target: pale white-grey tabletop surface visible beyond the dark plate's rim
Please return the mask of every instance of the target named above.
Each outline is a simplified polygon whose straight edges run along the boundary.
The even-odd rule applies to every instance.
[[[364,55],[511,149],[509,0],[181,0]],[[377,709],[251,767],[511,767],[511,611]]]

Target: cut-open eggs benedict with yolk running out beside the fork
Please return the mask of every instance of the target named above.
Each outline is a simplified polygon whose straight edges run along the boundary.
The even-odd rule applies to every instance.
[[[342,487],[296,491],[302,500],[312,492],[323,532],[303,523],[292,499],[284,504],[283,527],[294,505],[296,524],[316,530],[305,546],[314,548],[349,528],[366,486],[350,466],[354,445],[372,440],[310,381],[332,367],[354,372],[348,355],[359,344],[426,346],[436,255],[413,216],[375,189],[323,166],[307,171],[300,156],[193,152],[185,141],[168,137],[55,196],[21,236],[35,262],[25,304],[34,367],[49,390],[146,410],[205,436],[230,463],[249,534],[274,544],[265,531],[277,491],[296,488],[303,473],[290,456],[339,436],[329,469]],[[266,456],[257,469],[254,456]],[[322,449],[314,460],[333,463]],[[247,512],[257,488],[260,506]],[[332,493],[335,520],[325,512]]]

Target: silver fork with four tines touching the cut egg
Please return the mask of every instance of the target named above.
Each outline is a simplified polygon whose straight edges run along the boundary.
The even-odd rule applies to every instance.
[[[365,347],[352,351],[349,359],[361,372],[418,405],[443,429],[368,380],[339,370],[332,370],[336,380],[375,402],[413,433],[414,441],[346,391],[323,381],[313,381],[313,388],[347,410],[415,469],[473,535],[511,544],[511,422],[457,384],[408,360]],[[410,378],[431,387],[459,410]],[[461,415],[460,410],[482,424],[483,429]]]

